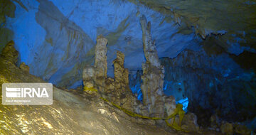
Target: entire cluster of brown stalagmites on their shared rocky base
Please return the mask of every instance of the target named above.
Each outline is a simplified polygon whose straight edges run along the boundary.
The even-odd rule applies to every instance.
[[[117,51],[113,60],[114,78],[107,77],[107,39],[97,37],[95,47],[95,65],[83,70],[84,90],[90,95],[99,95],[131,112],[146,117],[164,118],[174,113],[176,103],[174,97],[166,97],[163,92],[164,68],[159,63],[156,46],[151,39],[150,23],[142,16],[141,25],[144,39],[146,63],[142,64],[142,94],[140,102],[129,88],[129,71],[124,68],[124,54]],[[157,121],[162,124],[164,121]]]

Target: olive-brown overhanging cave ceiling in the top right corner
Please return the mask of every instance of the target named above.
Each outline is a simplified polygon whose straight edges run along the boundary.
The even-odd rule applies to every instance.
[[[255,1],[129,1],[159,11],[166,20],[174,20],[181,26],[185,23],[202,38],[224,34],[219,40],[229,53],[239,55],[244,50],[255,53],[256,39],[252,38],[256,36]]]

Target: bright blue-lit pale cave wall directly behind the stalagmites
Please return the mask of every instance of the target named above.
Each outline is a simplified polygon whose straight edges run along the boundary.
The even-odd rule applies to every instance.
[[[140,69],[145,61],[139,26],[142,14],[153,24],[159,57],[173,58],[197,41],[193,31],[184,30],[187,32],[183,34],[179,32],[181,26],[165,21],[161,13],[129,1],[22,2],[28,11],[14,2],[16,17],[6,19],[6,28],[14,31],[21,62],[31,67],[33,75],[59,87],[82,85],[81,67],[94,63],[95,39],[101,34],[109,41],[108,75],[114,76],[112,60],[116,50],[126,55],[126,68]]]

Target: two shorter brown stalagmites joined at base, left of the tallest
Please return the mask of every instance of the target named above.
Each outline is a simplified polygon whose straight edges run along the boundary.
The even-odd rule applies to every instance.
[[[124,68],[124,54],[117,51],[114,64],[114,79],[107,77],[107,39],[97,37],[95,47],[95,65],[83,70],[82,80],[85,92],[95,94],[114,102],[125,109],[132,110],[132,101],[136,100],[129,89],[129,71]]]

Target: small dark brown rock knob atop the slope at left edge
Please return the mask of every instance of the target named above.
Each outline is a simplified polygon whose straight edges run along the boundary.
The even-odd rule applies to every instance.
[[[18,51],[14,48],[14,41],[9,41],[1,51],[1,55],[11,63],[18,62]]]

